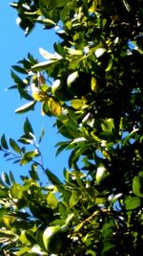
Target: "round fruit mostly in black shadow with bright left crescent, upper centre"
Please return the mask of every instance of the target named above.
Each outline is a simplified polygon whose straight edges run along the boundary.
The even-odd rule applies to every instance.
[[[84,96],[91,91],[92,76],[84,72],[75,71],[67,79],[69,91],[73,96]]]

